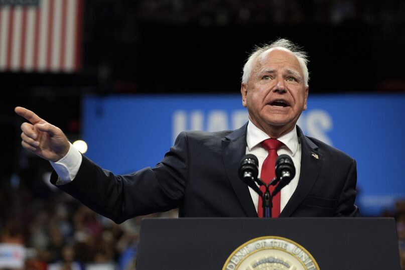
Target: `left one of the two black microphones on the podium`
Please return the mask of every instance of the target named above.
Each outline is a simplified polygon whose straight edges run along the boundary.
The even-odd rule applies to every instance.
[[[252,154],[243,156],[239,165],[239,178],[243,181],[243,183],[251,187],[255,192],[263,194],[255,184],[255,181],[257,181],[258,173],[259,161],[257,160],[256,156]]]

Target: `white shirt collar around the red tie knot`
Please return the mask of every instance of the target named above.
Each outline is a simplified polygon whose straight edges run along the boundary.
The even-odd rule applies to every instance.
[[[269,138],[270,137],[263,130],[255,126],[249,120],[246,133],[246,144],[249,151],[252,151],[252,149],[255,147],[261,147],[259,144]],[[277,140],[282,142],[288,148],[288,150],[290,150],[291,155],[294,157],[294,155],[297,153],[298,148],[297,125],[294,126],[293,130],[291,130],[287,134],[284,134]]]

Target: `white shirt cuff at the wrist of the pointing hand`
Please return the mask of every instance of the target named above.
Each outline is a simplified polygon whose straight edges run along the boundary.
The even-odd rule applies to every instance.
[[[50,161],[59,178],[56,185],[63,185],[71,182],[77,175],[82,163],[81,153],[71,144],[68,153],[57,162]]]

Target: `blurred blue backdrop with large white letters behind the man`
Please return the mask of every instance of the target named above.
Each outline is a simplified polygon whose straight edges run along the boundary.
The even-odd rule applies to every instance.
[[[357,161],[357,204],[379,215],[405,197],[405,95],[311,95],[298,124]],[[85,154],[116,174],[155,166],[182,130],[234,129],[247,121],[239,94],[88,96]],[[237,168],[235,168],[236,170]]]

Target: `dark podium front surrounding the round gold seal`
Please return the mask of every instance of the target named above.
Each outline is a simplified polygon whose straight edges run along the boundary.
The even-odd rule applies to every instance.
[[[400,270],[395,220],[364,217],[145,218],[136,269],[222,269],[235,250],[264,236],[299,244],[322,270]]]

